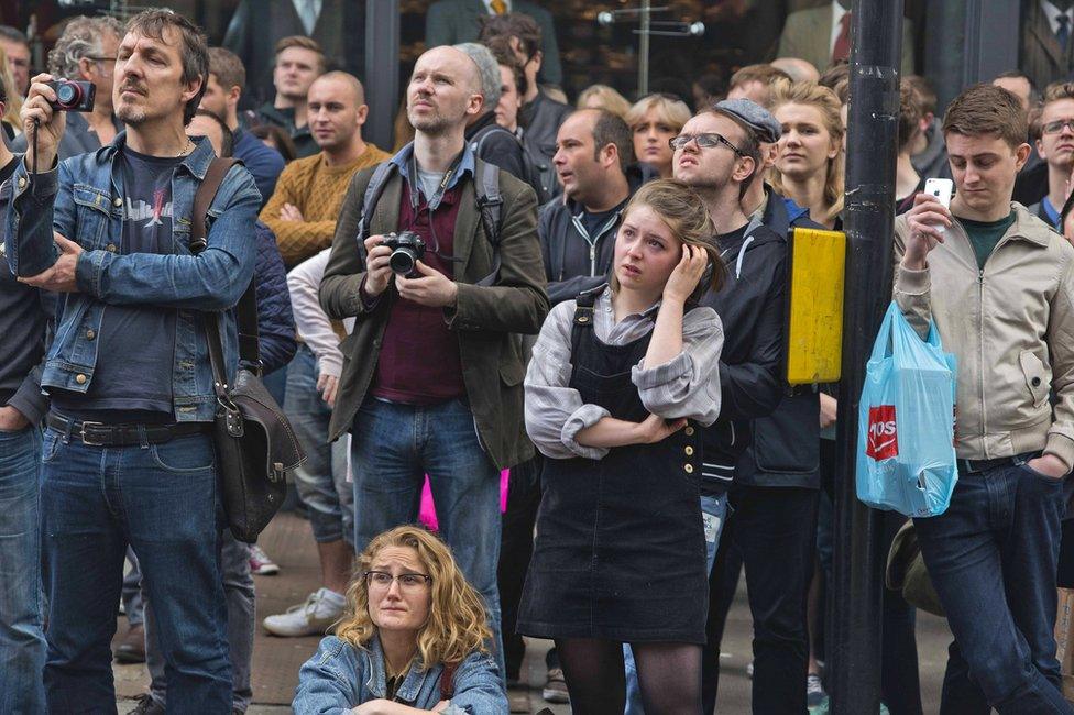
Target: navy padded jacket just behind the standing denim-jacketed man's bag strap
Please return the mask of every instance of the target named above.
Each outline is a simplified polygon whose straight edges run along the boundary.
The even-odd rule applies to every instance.
[[[295,356],[295,316],[287,293],[287,272],[276,248],[272,229],[257,221],[257,262],[254,267],[254,292],[257,296],[257,346],[262,372],[267,375]]]

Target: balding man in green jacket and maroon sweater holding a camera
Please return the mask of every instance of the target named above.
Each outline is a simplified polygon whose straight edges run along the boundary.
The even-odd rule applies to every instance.
[[[417,519],[428,474],[440,534],[498,642],[500,470],[533,455],[516,333],[540,329],[548,298],[533,189],[464,141],[481,92],[458,50],[418,58],[406,94],[414,142],[351,182],[320,302],[355,318],[330,426],[333,440],[353,435],[354,550]],[[394,273],[407,250],[414,271]]]

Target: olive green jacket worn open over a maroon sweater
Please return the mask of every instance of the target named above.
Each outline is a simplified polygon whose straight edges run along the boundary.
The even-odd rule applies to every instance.
[[[351,429],[354,415],[365,400],[384,327],[396,300],[393,284],[372,310],[365,310],[359,296],[365,264],[355,237],[365,187],[373,170],[363,169],[351,179],[320,286],[320,305],[329,317],[355,318],[354,332],[340,343],[343,372],[329,427],[331,440]],[[481,227],[473,177],[468,175],[464,182],[454,232],[454,255],[461,258],[456,267],[459,297],[453,309],[445,309],[443,319],[459,338],[462,377],[478,437],[493,463],[506,469],[534,453],[523,416],[522,382],[526,363],[518,333],[538,332],[548,314],[545,268],[537,240],[537,199],[529,186],[500,172],[504,201],[501,267],[495,285],[481,287],[473,284],[492,272],[493,250]],[[402,197],[403,178],[396,172],[377,201],[371,234],[398,230]],[[429,359],[436,360],[436,355]]]

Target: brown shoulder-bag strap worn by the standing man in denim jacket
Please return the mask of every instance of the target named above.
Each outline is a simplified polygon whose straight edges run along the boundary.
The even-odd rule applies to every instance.
[[[190,219],[190,252],[197,255],[208,245],[206,220],[209,207],[220,190],[224,177],[231,167],[238,164],[235,158],[215,158],[209,163],[205,178],[194,195],[194,216]],[[254,280],[243,292],[235,306],[235,317],[239,328],[239,360],[248,363],[250,369],[260,374],[261,352],[257,345],[257,299]],[[209,346],[209,363],[212,367],[213,391],[218,397],[226,397],[228,389],[228,372],[223,364],[223,345],[220,343],[220,314],[202,314],[206,342]]]

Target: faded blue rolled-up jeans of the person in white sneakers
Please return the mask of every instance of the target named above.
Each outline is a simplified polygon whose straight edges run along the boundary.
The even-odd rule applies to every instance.
[[[287,366],[284,411],[306,450],[295,470],[295,488],[309,510],[314,540],[328,543],[354,538],[354,502],[347,483],[347,442],[328,442],[331,408],[317,392],[317,359],[304,344]]]

